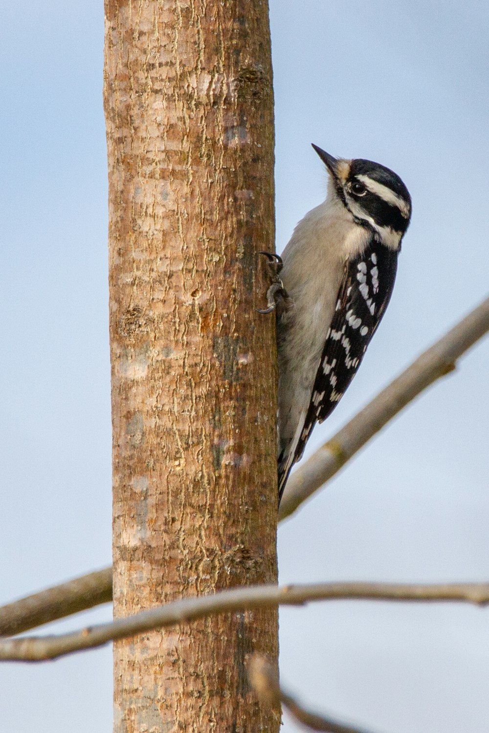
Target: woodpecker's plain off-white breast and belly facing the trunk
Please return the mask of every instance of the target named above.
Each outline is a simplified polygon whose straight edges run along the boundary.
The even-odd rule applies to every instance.
[[[290,449],[304,422],[345,261],[369,240],[336,192],[328,194],[295,227],[282,253],[280,276],[294,306],[278,322],[281,450]]]

